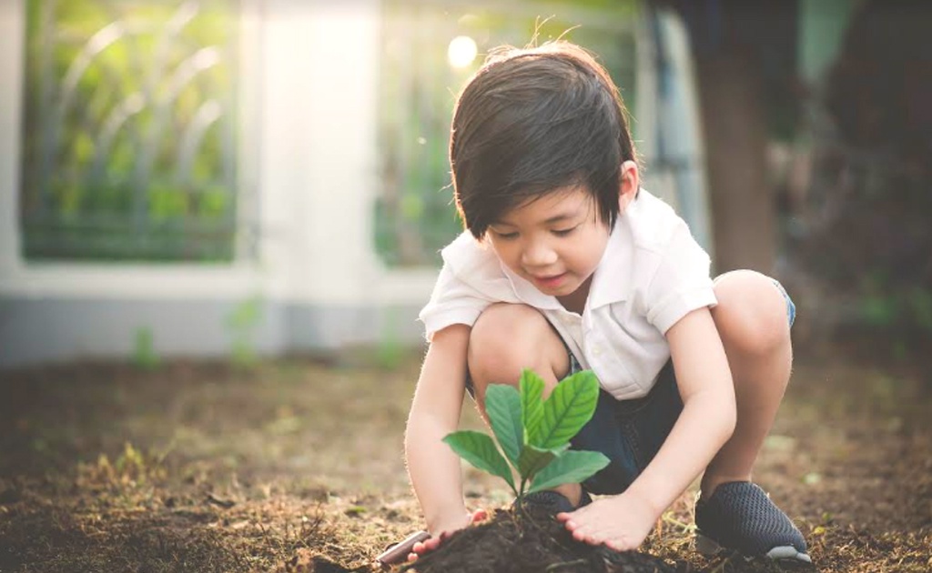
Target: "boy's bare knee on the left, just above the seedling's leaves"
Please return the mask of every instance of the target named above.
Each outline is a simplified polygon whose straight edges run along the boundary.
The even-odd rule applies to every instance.
[[[541,369],[566,354],[550,323],[526,305],[498,303],[473,324],[467,360],[473,384],[515,384],[524,368]]]

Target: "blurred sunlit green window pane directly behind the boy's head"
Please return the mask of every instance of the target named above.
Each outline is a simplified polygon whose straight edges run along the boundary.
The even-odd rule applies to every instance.
[[[450,120],[456,94],[490,48],[562,35],[596,53],[634,109],[631,2],[387,0],[383,16],[375,242],[390,266],[436,265],[462,230],[446,155]]]

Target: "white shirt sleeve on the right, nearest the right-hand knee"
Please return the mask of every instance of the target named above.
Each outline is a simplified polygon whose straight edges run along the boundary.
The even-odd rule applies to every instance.
[[[685,223],[677,226],[660,257],[646,295],[647,320],[661,333],[676,324],[692,310],[714,307],[710,259],[705,250],[692,239]]]

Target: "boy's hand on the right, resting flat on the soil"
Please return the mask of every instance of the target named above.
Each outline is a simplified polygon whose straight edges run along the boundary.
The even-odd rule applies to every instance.
[[[573,539],[590,545],[604,544],[617,552],[637,549],[657,517],[658,512],[647,499],[633,493],[597,499],[575,512],[556,514]]]

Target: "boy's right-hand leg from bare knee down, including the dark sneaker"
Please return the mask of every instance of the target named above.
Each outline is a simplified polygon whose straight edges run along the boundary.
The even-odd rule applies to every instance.
[[[719,306],[712,317],[732,369],[737,423],[703,476],[695,510],[696,548],[710,553],[724,546],[747,555],[808,563],[802,533],[750,483],[789,380],[792,303],[778,283],[752,271],[723,275],[715,289]]]

